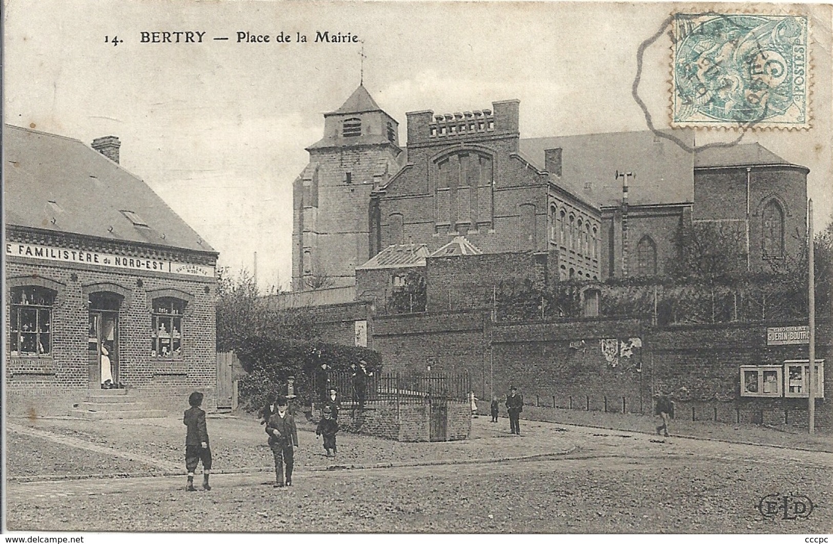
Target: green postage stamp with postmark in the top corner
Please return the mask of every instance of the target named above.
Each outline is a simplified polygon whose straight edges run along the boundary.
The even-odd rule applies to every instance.
[[[677,13],[672,125],[810,127],[807,32],[802,15]]]

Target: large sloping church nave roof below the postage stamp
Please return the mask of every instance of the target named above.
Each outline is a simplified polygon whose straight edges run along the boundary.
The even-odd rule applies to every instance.
[[[675,131],[688,146],[693,132]],[[616,171],[636,172],[628,179],[631,204],[669,204],[694,200],[694,157],[675,142],[651,131],[606,132],[579,136],[523,138],[520,151],[541,170],[544,150],[561,147],[557,185],[596,206],[621,202],[622,181]],[[551,172],[552,173],[552,172]]]

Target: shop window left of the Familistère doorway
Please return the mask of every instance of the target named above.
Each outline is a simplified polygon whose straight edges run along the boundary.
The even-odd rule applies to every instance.
[[[57,292],[46,287],[12,287],[9,348],[12,357],[52,352],[52,306]]]

